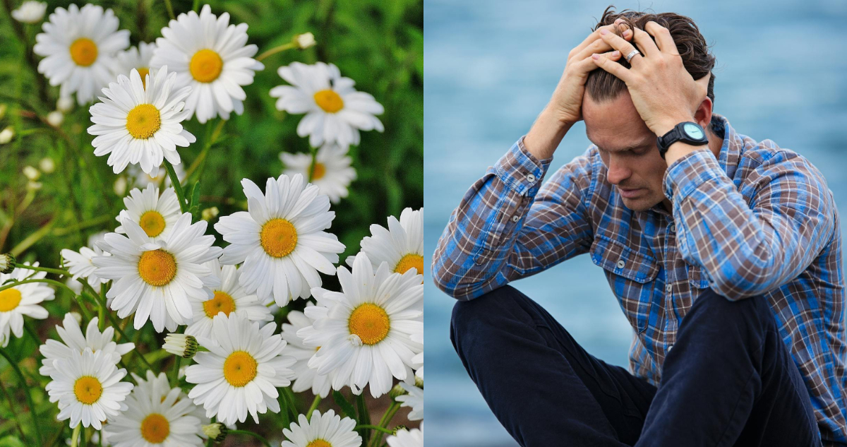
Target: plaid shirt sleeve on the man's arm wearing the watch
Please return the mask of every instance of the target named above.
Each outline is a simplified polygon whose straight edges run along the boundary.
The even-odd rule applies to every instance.
[[[735,185],[707,149],[667,168],[678,249],[730,300],[760,295],[796,278],[835,231],[833,196],[811,163],[789,151],[761,152]]]

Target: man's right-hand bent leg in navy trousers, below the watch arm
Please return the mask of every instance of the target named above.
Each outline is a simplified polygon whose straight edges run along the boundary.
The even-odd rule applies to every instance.
[[[767,298],[695,298],[662,367],[638,447],[819,446],[808,391]]]

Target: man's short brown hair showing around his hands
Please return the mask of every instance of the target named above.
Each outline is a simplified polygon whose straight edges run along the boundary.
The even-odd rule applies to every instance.
[[[683,65],[691,74],[691,77],[699,80],[715,67],[715,57],[709,52],[706,39],[700,34],[700,29],[697,28],[694,20],[689,17],[674,13],[649,14],[632,9],[624,9],[620,13],[616,13],[614,8],[614,6],[609,6],[603,11],[600,22],[593,30],[597,30],[604,25],[612,25],[618,18],[623,19],[630,29],[637,27],[641,30],[644,30],[647,22],[654,21],[671,31],[671,37],[677,44],[679,56],[683,59]],[[625,28],[622,28],[622,30],[625,30]],[[656,38],[653,38],[653,40],[656,41]],[[626,58],[623,57],[618,59],[617,63],[627,69],[630,67]],[[714,86],[715,74],[712,73],[706,93],[706,96],[711,99],[712,105],[715,103]],[[596,102],[615,99],[625,88],[626,84],[623,83],[623,80],[617,79],[617,76],[604,69],[592,70],[585,80],[585,91]]]

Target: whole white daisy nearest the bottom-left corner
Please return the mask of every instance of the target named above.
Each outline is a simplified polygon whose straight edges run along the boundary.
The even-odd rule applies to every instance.
[[[108,417],[126,411],[126,395],[132,384],[121,382],[126,370],[118,369],[108,352],[92,352],[86,347],[82,353],[57,359],[53,363],[53,380],[47,384],[50,401],[58,400],[59,421],[70,419],[70,428],[82,422],[83,427],[102,428]]]

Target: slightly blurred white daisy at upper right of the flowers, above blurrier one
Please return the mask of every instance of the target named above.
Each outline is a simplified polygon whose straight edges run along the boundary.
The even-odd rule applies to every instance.
[[[276,102],[278,110],[306,113],[297,124],[297,135],[309,135],[310,145],[358,145],[359,130],[383,131],[374,115],[385,109],[371,94],[356,91],[356,82],[342,77],[334,63],[293,62],[280,67],[278,73],[291,86],[276,86],[270,96],[280,98]]]

